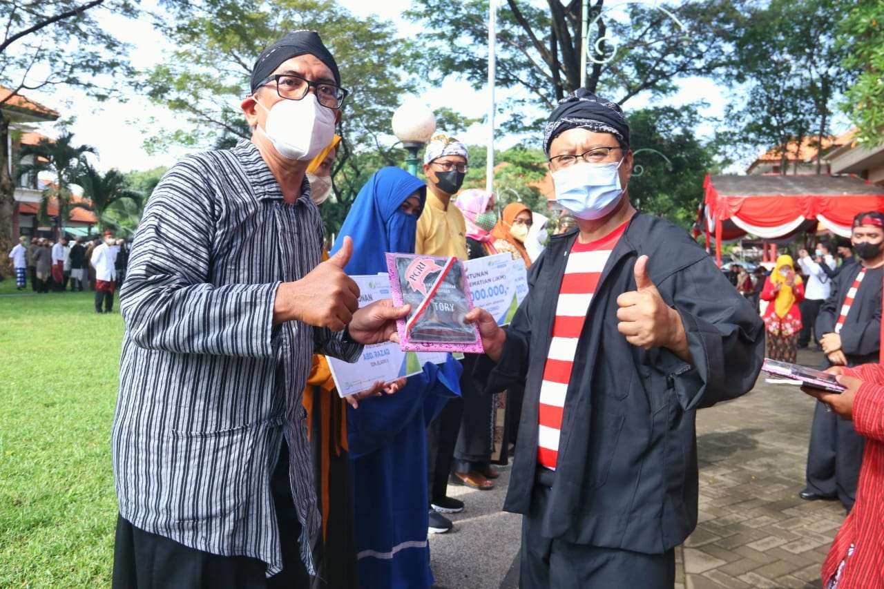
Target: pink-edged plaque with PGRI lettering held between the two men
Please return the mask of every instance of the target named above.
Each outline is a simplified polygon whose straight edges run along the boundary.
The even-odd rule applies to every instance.
[[[467,272],[457,258],[387,254],[390,295],[408,303],[408,317],[397,322],[400,348],[407,352],[481,354],[476,325],[464,316],[473,309]]]

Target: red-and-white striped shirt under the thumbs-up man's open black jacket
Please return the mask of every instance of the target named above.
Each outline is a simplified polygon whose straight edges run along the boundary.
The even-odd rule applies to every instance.
[[[565,393],[571,380],[577,342],[583,331],[586,313],[590,309],[592,295],[596,292],[607,259],[628,223],[617,227],[600,240],[590,243],[575,241],[568,256],[565,275],[559,287],[559,302],[552,324],[552,342],[546,356],[544,379],[540,386],[538,411],[537,462],[551,470],[555,470],[559,456]]]

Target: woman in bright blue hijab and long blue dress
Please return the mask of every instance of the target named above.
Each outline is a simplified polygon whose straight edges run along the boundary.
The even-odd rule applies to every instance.
[[[351,276],[387,272],[386,252],[415,253],[426,186],[400,168],[375,172],[347,213],[332,253],[353,239]],[[461,393],[461,364],[426,363],[396,394],[347,408],[362,589],[429,588],[426,427]]]

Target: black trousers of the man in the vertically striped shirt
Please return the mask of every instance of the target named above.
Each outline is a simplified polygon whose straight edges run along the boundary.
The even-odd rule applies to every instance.
[[[271,492],[282,543],[282,572],[267,578],[267,565],[257,558],[211,555],[140,530],[118,516],[113,589],[309,589],[310,578],[298,554],[301,524],[288,482],[285,442]]]

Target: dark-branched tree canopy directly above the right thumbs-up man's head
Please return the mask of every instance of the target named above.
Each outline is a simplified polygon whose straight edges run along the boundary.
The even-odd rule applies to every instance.
[[[618,103],[643,92],[667,95],[674,80],[707,75],[732,63],[726,40],[739,22],[743,0],[688,0],[677,8],[590,0],[591,60],[586,88]],[[613,7],[612,7],[613,4]],[[621,3],[622,4],[622,3]],[[422,73],[438,83],[460,74],[476,88],[487,80],[487,0],[465,0],[450,18],[445,0],[416,0],[406,15],[425,34]],[[507,0],[498,13],[498,88],[515,92],[501,111],[510,112],[504,130],[536,125],[537,105],[549,110],[580,86],[579,0],[548,0],[545,6]],[[527,110],[525,107],[528,107]]]

